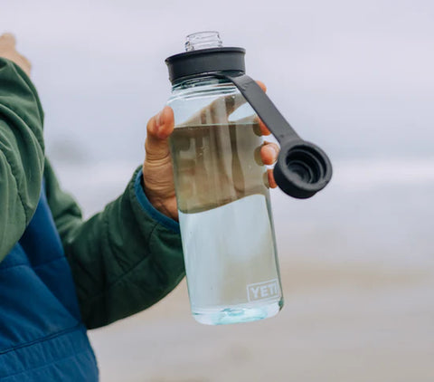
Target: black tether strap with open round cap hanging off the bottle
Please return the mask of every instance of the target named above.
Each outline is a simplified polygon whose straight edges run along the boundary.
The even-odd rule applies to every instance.
[[[328,184],[333,173],[330,159],[321,148],[298,136],[256,81],[246,74],[217,72],[212,75],[231,81],[278,139],[280,153],[273,173],[282,191],[306,199]]]

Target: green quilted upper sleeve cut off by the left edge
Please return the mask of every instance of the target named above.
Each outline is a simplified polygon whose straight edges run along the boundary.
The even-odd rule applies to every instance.
[[[42,108],[27,75],[0,58],[0,262],[32,219],[43,173]]]

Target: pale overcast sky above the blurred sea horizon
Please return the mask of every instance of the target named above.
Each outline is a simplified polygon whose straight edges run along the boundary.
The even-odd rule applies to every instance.
[[[165,58],[220,31],[299,134],[332,158],[428,158],[434,3],[0,0],[0,32],[33,62],[56,158],[142,160],[169,96]],[[116,156],[114,155],[116,150]]]

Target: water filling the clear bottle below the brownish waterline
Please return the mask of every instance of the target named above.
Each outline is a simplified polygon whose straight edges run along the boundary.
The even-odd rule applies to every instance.
[[[177,127],[170,138],[193,316],[260,320],[283,305],[257,123]]]

